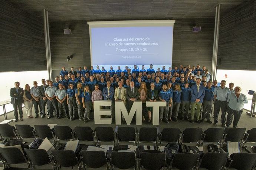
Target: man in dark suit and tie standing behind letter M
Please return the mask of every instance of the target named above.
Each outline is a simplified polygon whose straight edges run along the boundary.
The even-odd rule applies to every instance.
[[[127,98],[127,111],[130,112],[132,104],[135,100],[138,100],[140,96],[139,89],[134,86],[134,82],[130,82],[130,86],[126,89],[125,96]]]

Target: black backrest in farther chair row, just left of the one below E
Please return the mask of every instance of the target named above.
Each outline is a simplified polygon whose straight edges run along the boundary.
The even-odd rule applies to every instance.
[[[93,141],[93,130],[91,129],[91,127],[76,126],[75,132],[78,140]]]

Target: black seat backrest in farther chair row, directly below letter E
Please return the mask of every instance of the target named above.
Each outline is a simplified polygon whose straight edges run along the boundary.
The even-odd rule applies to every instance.
[[[99,141],[113,141],[114,130],[112,127],[96,127],[96,136]]]

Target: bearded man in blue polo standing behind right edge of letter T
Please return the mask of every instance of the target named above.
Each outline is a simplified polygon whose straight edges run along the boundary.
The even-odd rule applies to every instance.
[[[168,111],[169,107],[171,106],[173,96],[171,91],[167,90],[166,84],[163,85],[163,90],[159,92],[159,99],[160,101],[166,102],[166,106],[160,108],[160,122],[162,122],[163,114],[164,114],[164,122],[169,123],[168,121]]]

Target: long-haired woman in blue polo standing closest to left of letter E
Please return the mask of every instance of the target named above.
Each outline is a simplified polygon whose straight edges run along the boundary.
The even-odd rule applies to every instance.
[[[82,93],[83,108],[85,108],[85,114],[83,115],[83,122],[90,121],[90,112],[92,108],[92,94],[89,90],[89,86],[85,86]]]

